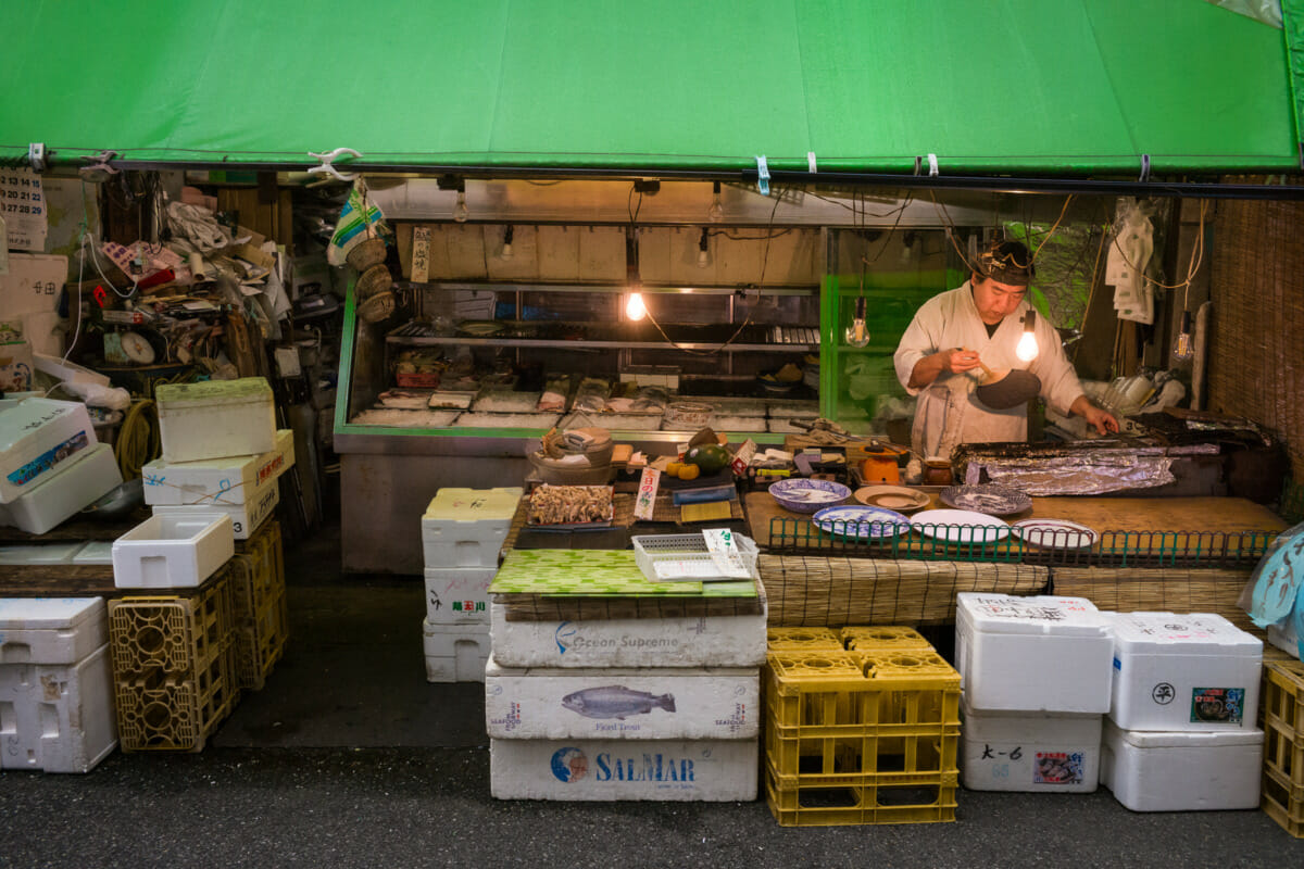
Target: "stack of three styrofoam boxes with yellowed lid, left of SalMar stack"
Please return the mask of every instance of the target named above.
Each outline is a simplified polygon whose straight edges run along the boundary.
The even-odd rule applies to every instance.
[[[441,489],[421,516],[425,555],[425,675],[484,681],[489,582],[520,502],[520,487]]]

